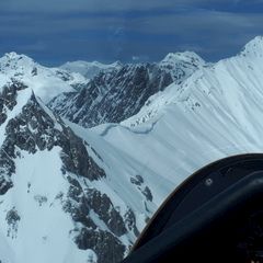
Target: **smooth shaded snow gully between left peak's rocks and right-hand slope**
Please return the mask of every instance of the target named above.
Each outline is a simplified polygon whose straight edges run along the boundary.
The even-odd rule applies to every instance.
[[[101,161],[98,160],[98,162],[108,175],[104,187],[114,188],[114,192],[121,197],[123,204],[135,208],[135,210],[140,213],[141,217],[151,215],[145,211],[146,203],[141,199],[141,196],[138,195],[140,191],[132,187],[130,192],[128,188],[130,186],[130,176],[141,175],[145,181],[144,184],[148,185],[150,190],[153,190],[153,204],[149,204],[150,213],[155,211],[163,198],[165,198],[169,191],[171,191],[171,181],[169,179],[163,180],[155,170],[151,170],[150,165],[145,165],[139,158],[135,158],[133,156],[134,151],[129,153],[125,151],[124,147],[115,147],[107,142],[102,136],[90,129],[82,128],[77,124],[68,122],[68,125],[79,137],[89,141],[91,147],[95,149],[95,152],[99,153]],[[130,144],[133,144],[133,141],[130,141]],[[98,157],[92,156],[92,152],[89,153],[96,160]],[[140,155],[141,153],[138,152],[138,156]],[[108,193],[106,190],[103,192]],[[111,199],[114,198],[116,198],[116,196],[111,196]],[[142,226],[139,226],[139,229],[142,230],[144,226],[145,221]]]

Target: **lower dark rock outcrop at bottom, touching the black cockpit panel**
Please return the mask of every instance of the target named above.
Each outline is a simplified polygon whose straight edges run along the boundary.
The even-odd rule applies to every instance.
[[[122,216],[113,207],[111,199],[94,188],[82,190],[77,180],[70,178],[68,201],[64,209],[72,215],[81,227],[72,230],[79,249],[92,249],[98,255],[98,262],[119,262],[126,251],[117,237],[127,233]],[[96,216],[95,216],[96,215]],[[92,220],[98,217],[108,230],[101,230]]]

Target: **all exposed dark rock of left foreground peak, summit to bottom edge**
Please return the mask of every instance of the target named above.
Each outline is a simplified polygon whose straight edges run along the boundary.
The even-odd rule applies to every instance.
[[[19,93],[26,90],[25,84],[15,80],[1,89],[0,128],[5,132],[0,146],[0,195],[14,187],[16,160],[23,158],[23,152],[35,155],[59,148],[61,176],[68,182],[68,191],[56,198],[60,199],[64,211],[72,218],[75,228],[71,229],[71,238],[79,249],[94,251],[98,263],[119,262],[127,250],[119,238],[134,231],[136,218],[127,224],[130,216],[124,219],[111,198],[92,187],[93,181],[106,174],[90,157],[88,149],[95,152],[88,142],[76,136],[60,117],[53,115],[34,93],[28,92],[24,104],[18,104]],[[31,183],[27,183],[26,192],[31,193]],[[45,195],[37,194],[33,198],[39,207],[48,203]],[[7,213],[10,237],[16,237],[22,216],[15,207]]]

